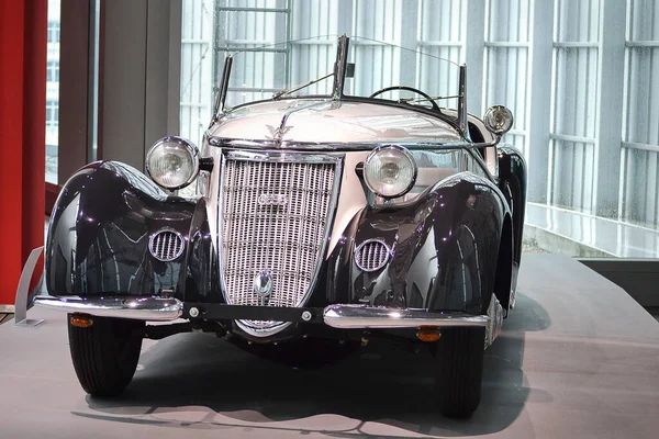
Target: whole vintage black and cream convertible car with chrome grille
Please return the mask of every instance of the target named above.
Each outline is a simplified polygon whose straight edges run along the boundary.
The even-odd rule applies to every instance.
[[[64,185],[48,295],[34,302],[68,313],[86,392],[123,392],[143,338],[206,331],[290,356],[381,337],[434,356],[443,414],[478,407],[521,257],[525,160],[500,144],[513,115],[468,113],[465,65],[366,38],[333,43],[326,71],[308,81],[300,56],[250,87],[278,66],[259,66],[254,48],[230,54],[201,148],[164,137],[146,175],[98,161]],[[415,72],[373,65],[378,53]],[[439,83],[455,91],[439,95]]]

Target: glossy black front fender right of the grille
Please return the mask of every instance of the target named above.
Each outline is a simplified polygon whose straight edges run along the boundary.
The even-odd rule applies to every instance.
[[[365,209],[355,246],[379,238],[392,256],[376,272],[353,262],[351,302],[483,313],[506,215],[496,185],[469,172],[443,180],[406,205]]]

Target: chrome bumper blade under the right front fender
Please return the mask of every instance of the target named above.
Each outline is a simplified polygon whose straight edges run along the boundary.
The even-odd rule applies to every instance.
[[[326,325],[339,329],[418,328],[421,326],[488,326],[487,315],[431,313],[423,309],[388,308],[368,305],[331,305],[323,312]]]

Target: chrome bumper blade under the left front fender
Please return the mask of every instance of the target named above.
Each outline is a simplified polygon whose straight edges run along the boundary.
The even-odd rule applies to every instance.
[[[53,297],[36,296],[34,304],[67,313],[91,314],[99,317],[134,318],[136,320],[168,322],[183,314],[178,299],[155,296]]]

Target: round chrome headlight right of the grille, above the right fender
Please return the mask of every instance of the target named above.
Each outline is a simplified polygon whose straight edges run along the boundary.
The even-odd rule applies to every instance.
[[[416,180],[416,162],[402,146],[380,146],[366,159],[364,178],[368,188],[384,199],[404,195]]]

